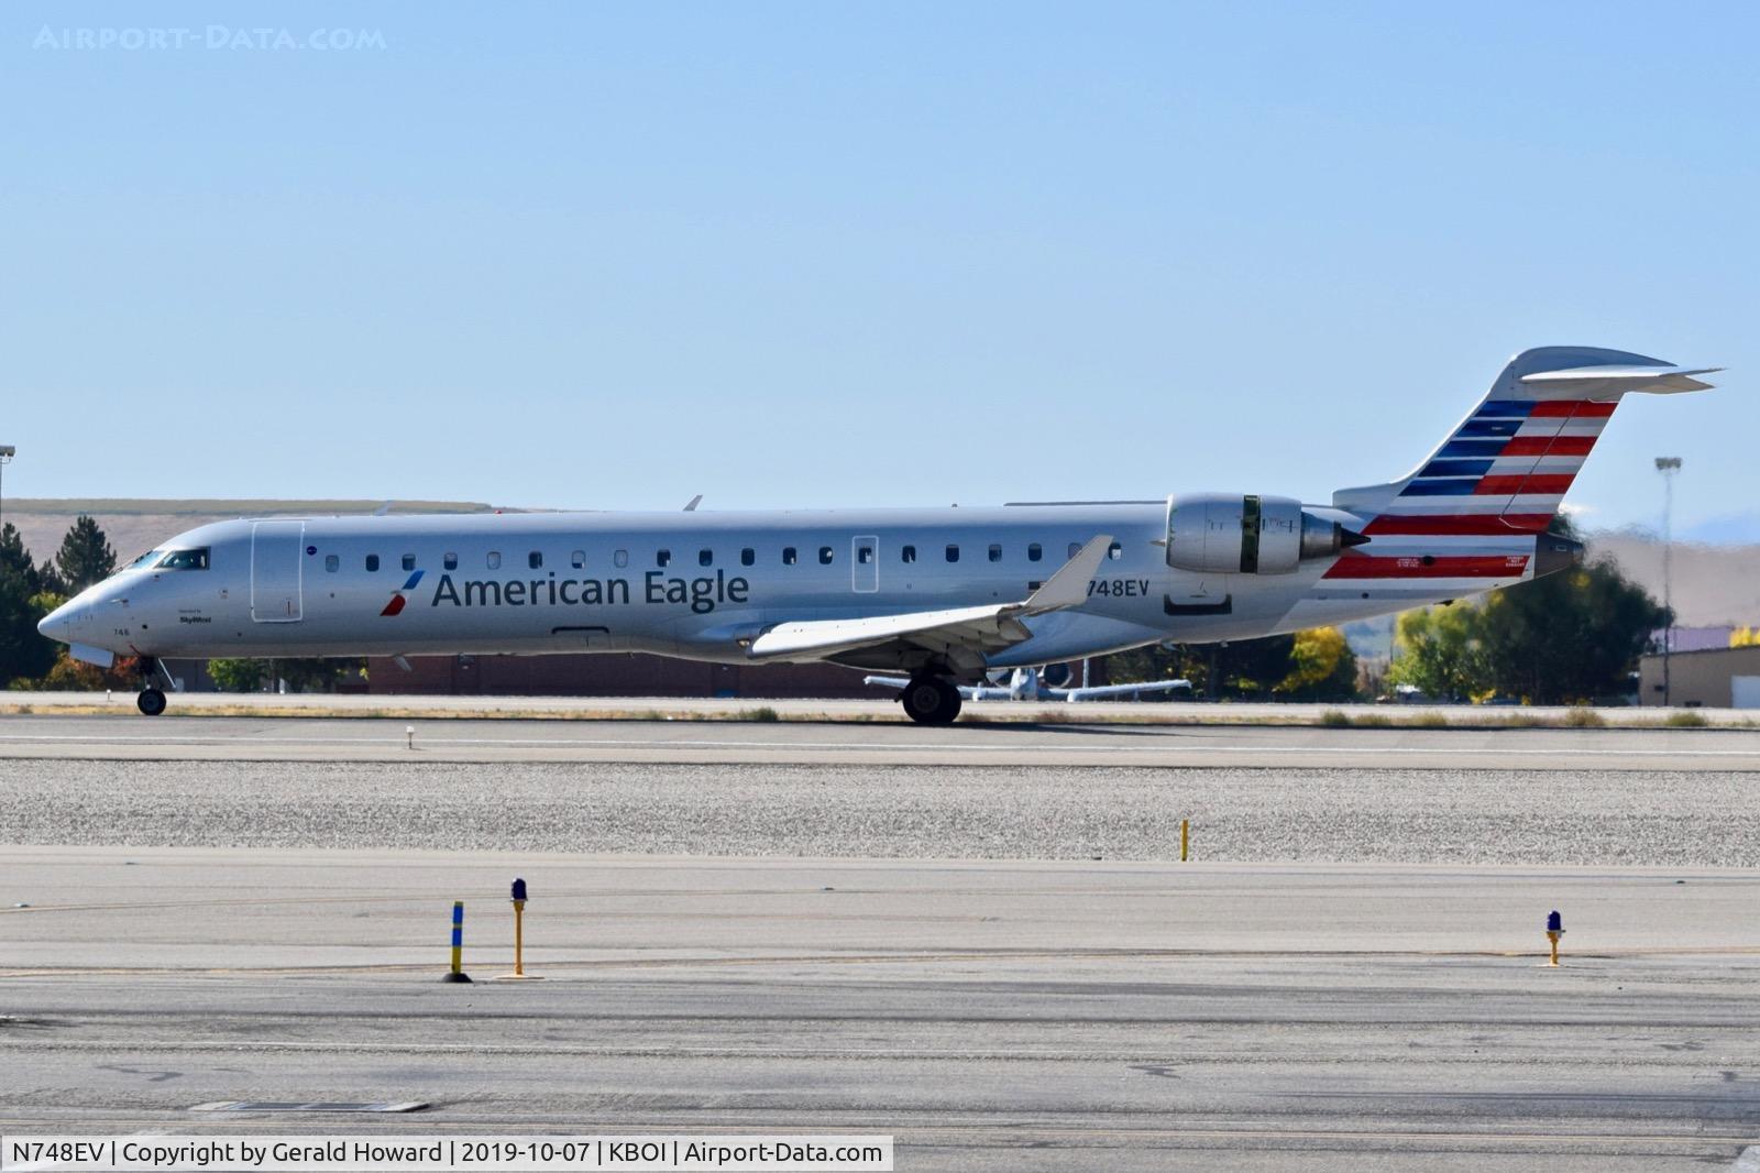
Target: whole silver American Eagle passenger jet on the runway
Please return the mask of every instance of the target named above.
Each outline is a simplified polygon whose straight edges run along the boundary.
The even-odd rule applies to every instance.
[[[48,615],[137,657],[651,652],[901,673],[905,713],[959,715],[987,673],[1174,639],[1343,623],[1573,565],[1549,534],[1619,402],[1702,391],[1661,359],[1517,354],[1410,474],[1325,505],[1265,493],[986,509],[245,518],[178,534]],[[1301,442],[1292,435],[1288,442]]]

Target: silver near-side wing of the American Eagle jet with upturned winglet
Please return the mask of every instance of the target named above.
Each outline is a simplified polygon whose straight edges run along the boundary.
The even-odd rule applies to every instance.
[[[1100,534],[1021,602],[778,623],[753,639],[746,655],[753,660],[817,660],[892,641],[936,652],[952,646],[1000,652],[1031,638],[1033,632],[1021,622],[1023,618],[1086,602],[1088,583],[1100,569],[1111,544],[1112,535]]]

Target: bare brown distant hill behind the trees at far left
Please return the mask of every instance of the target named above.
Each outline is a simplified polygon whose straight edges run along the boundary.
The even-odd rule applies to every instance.
[[[32,558],[42,562],[62,548],[62,537],[79,514],[92,514],[104,527],[116,562],[130,562],[172,534],[209,521],[271,516],[363,514],[384,507],[382,500],[227,500],[227,498],[125,498],[125,497],[21,497],[5,498],[5,520],[18,527]],[[400,500],[392,513],[493,513],[475,500]]]

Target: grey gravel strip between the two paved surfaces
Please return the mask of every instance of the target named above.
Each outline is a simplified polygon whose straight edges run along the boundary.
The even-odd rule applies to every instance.
[[[0,763],[0,842],[1760,867],[1760,777]]]

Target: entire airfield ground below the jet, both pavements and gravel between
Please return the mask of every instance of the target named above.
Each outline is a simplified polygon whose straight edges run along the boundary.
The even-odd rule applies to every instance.
[[[1728,1168],[1756,784],[1748,729],[7,715],[0,1131]],[[514,875],[546,981],[440,985]],[[431,1108],[190,1113],[338,1099]]]

